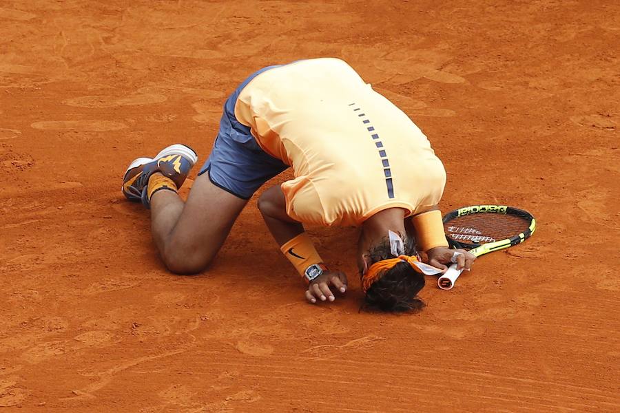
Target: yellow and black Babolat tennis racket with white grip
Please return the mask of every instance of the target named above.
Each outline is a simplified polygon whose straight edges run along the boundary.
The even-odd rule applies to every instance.
[[[524,242],[536,230],[536,220],[528,211],[505,205],[472,205],[444,215],[444,230],[450,246],[479,257]],[[456,267],[437,280],[442,290],[450,290],[461,275]]]

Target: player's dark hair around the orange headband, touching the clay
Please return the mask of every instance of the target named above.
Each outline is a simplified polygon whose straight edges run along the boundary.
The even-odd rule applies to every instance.
[[[402,236],[402,235],[401,235]],[[416,255],[415,240],[412,237],[402,237],[406,255]],[[389,240],[383,240],[373,246],[368,255],[373,264],[393,258]],[[417,293],[424,288],[424,275],[411,268],[406,262],[399,262],[393,268],[379,275],[364,297],[362,308],[371,307],[390,313],[417,312],[425,304]]]

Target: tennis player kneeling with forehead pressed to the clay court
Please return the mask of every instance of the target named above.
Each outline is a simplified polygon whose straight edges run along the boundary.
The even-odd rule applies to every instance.
[[[289,167],[294,178],[262,193],[258,209],[308,283],[308,301],[333,301],[347,278],[321,259],[303,224],[361,227],[365,302],[386,311],[421,308],[424,273],[454,261],[469,269],[475,260],[448,248],[437,209],[446,173],[426,136],[339,59],[249,76],[227,99],[213,150],[183,202],[177,190],[196,161],[192,149],[172,145],[134,160],[123,180],[127,199],[151,209],[155,243],[174,273],[202,271],[252,194]]]

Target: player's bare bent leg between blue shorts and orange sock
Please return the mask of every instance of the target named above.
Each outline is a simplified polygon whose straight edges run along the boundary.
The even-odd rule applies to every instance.
[[[167,268],[195,274],[213,260],[239,213],[247,204],[209,180],[198,176],[187,202],[174,191],[152,195],[152,234]]]

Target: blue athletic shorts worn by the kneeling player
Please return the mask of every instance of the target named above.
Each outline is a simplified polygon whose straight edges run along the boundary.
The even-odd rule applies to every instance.
[[[235,104],[241,90],[258,74],[279,66],[265,67],[251,74],[226,100],[220,130],[209,159],[198,175],[209,173],[217,187],[244,200],[289,166],[260,149],[250,128],[235,118]]]

